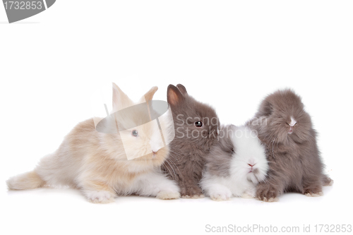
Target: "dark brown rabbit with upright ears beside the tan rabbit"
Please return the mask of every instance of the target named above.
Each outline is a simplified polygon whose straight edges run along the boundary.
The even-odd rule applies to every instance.
[[[172,109],[175,138],[162,169],[179,184],[182,198],[202,198],[198,186],[205,155],[217,141],[219,120],[215,110],[189,96],[184,85],[169,85],[167,101]]]

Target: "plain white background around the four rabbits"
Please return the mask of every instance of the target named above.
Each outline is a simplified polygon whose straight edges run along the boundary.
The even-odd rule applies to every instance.
[[[352,1],[58,0],[6,23],[0,6],[1,234],[206,234],[205,226],[352,224]],[[335,185],[278,203],[121,197],[88,203],[72,189],[7,191],[92,116],[114,81],[137,100],[181,83],[240,125],[279,88],[303,97]],[[181,233],[184,232],[184,233]]]

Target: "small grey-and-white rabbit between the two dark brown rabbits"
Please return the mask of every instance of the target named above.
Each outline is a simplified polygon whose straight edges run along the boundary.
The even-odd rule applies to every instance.
[[[200,185],[213,200],[255,198],[256,184],[268,171],[265,147],[249,127],[225,126],[206,157]]]

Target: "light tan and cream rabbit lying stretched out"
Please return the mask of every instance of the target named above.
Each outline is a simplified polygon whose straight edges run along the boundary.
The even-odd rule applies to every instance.
[[[140,103],[152,100],[157,89],[151,88]],[[129,194],[179,198],[177,183],[160,170],[169,156],[169,146],[157,147],[156,136],[160,135],[157,123],[140,125],[141,120],[150,120],[143,109],[117,115],[117,111],[133,106],[135,103],[113,83],[114,114],[108,117],[113,126],[117,125],[119,133],[98,132],[93,119],[80,122],[33,171],[8,179],[8,188],[70,186],[78,188],[91,203],[112,203],[117,195]],[[161,116],[159,120],[163,134],[170,135],[174,131],[172,115]]]

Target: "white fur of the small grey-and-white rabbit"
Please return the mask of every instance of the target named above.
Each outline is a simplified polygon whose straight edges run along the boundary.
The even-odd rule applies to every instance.
[[[235,153],[230,162],[229,176],[215,176],[205,172],[201,180],[203,191],[213,200],[229,200],[232,195],[254,198],[256,184],[265,179],[268,171],[265,147],[261,145],[256,133],[245,126],[237,127],[235,130],[230,136]],[[249,164],[258,171],[256,174],[249,173],[251,171]]]

